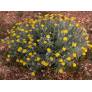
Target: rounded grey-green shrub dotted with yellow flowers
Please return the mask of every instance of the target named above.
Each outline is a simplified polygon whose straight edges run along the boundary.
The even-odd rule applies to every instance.
[[[51,67],[62,73],[67,67],[76,68],[78,58],[85,56],[88,47],[87,31],[75,17],[61,14],[38,15],[16,23],[7,41],[7,60],[30,67],[32,75]]]

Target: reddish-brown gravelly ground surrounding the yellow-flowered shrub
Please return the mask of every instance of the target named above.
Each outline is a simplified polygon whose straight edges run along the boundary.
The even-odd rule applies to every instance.
[[[32,18],[38,12],[0,12],[0,39],[7,37],[7,31],[11,29],[16,21],[23,18]],[[43,14],[48,12],[41,12]],[[54,13],[54,12],[49,12]],[[58,13],[58,12],[57,12]],[[87,29],[87,32],[92,41],[92,12],[61,12],[66,16],[74,16],[77,21]],[[92,79],[92,53],[88,53],[87,57],[80,63],[79,69],[74,72],[64,72],[57,74],[47,69],[44,74],[38,74],[36,77],[31,76],[30,70],[17,65],[16,63],[6,62],[2,53],[7,49],[7,46],[0,43],[0,79],[4,80],[31,80],[31,79],[55,79],[55,80],[72,80],[72,79]],[[42,77],[43,75],[43,77]],[[48,75],[48,76],[47,76]]]

